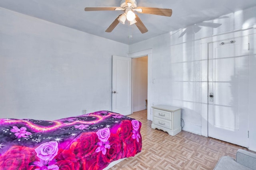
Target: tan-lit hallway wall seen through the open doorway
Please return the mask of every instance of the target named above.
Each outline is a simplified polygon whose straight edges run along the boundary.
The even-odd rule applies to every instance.
[[[132,59],[132,111],[145,109],[148,99],[148,56]]]

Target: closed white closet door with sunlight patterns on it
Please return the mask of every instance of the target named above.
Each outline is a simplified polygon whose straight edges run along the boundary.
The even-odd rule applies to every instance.
[[[248,37],[208,44],[208,136],[248,147]]]

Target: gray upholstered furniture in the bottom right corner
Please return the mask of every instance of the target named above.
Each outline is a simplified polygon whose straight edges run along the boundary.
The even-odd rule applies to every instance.
[[[256,170],[256,154],[238,149],[236,160],[230,156],[223,156],[214,170]]]

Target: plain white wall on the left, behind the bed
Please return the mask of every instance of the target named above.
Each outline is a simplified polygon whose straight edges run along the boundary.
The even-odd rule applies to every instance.
[[[0,117],[111,110],[112,55],[128,45],[2,8],[0,21]]]

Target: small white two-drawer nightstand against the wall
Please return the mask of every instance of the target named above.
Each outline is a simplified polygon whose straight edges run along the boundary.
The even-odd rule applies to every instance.
[[[180,107],[156,105],[153,108],[152,129],[160,129],[169,135],[176,135],[181,131],[180,126]]]

